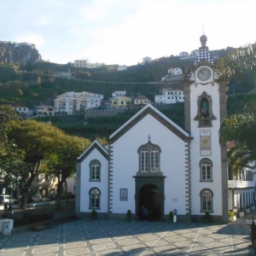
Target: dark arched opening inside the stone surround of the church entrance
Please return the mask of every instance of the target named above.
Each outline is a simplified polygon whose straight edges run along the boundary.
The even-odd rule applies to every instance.
[[[161,219],[161,195],[160,190],[153,184],[146,184],[139,190],[139,219],[143,219],[142,208],[148,209],[149,221]]]

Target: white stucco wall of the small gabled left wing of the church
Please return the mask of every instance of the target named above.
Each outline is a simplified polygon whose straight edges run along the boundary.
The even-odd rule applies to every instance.
[[[101,166],[101,181],[90,182],[90,161],[99,160]],[[91,212],[90,195],[91,188],[96,187],[101,191],[100,209],[97,212],[108,212],[108,160],[94,148],[81,163],[81,187],[80,187],[80,212]]]

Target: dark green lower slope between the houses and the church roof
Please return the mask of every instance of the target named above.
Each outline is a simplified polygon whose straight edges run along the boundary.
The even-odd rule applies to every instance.
[[[242,112],[244,96],[227,97],[227,116]],[[184,129],[185,116],[183,103],[159,105],[156,108]],[[95,137],[109,137],[113,131],[116,131],[121,125],[125,124],[139,110],[140,108],[133,108],[113,116],[90,117],[86,122],[84,122],[84,114],[40,117],[37,120],[43,122],[50,121],[53,125],[66,131],[68,134],[94,139]]]

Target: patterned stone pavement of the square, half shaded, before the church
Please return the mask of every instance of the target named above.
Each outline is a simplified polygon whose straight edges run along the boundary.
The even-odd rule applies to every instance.
[[[78,220],[0,237],[0,255],[254,255],[247,225]]]

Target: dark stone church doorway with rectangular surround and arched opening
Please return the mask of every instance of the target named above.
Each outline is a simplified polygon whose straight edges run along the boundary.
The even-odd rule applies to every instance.
[[[147,207],[151,221],[164,221],[164,176],[135,176],[136,218],[142,219],[142,207]]]

